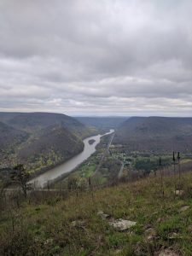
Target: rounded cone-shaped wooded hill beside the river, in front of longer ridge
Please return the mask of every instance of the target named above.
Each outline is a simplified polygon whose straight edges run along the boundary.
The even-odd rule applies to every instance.
[[[46,127],[35,133],[18,149],[18,160],[41,170],[64,162],[84,149],[84,143],[61,125]]]

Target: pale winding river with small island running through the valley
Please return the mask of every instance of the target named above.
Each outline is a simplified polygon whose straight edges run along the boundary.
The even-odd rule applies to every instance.
[[[64,174],[68,172],[72,172],[77,166],[87,160],[91,154],[96,152],[96,145],[100,143],[100,139],[103,136],[109,135],[113,133],[113,129],[108,131],[103,135],[96,135],[87,137],[84,139],[84,150],[73,156],[70,160],[67,160],[65,163],[60,166],[55,166],[43,174],[40,174],[38,177],[34,177],[30,183],[33,183],[36,188],[44,188],[48,182],[53,182],[55,179],[62,177]],[[90,140],[94,140],[94,143],[89,143]]]

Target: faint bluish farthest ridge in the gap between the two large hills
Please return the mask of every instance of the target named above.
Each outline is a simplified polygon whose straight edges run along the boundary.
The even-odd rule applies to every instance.
[[[75,119],[84,125],[96,127],[100,131],[109,131],[119,127],[128,117],[76,117]]]

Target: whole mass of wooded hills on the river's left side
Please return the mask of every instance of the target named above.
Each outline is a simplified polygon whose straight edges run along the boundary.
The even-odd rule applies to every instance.
[[[32,172],[78,154],[96,129],[61,113],[0,113],[0,168],[24,163]]]

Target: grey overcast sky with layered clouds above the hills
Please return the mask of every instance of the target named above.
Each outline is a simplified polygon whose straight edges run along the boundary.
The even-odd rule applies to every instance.
[[[191,0],[0,0],[0,111],[192,116]]]

